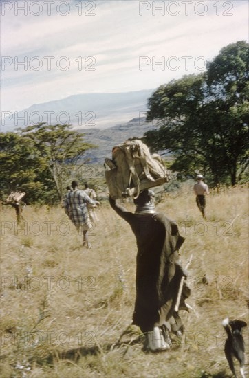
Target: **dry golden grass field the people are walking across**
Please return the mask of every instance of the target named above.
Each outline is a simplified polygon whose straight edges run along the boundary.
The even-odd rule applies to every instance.
[[[27,206],[20,227],[14,210],[2,207],[1,378],[231,377],[221,321],[248,322],[248,190],[211,192],[206,221],[190,185],[163,194],[156,209],[186,237],[184,266],[193,254],[187,300],[193,311],[180,312],[182,341],[173,338],[163,353],[144,352],[140,329],[129,327],[136,241],[108,201],[91,230],[92,249],[83,249],[61,207]],[[248,327],[246,376],[247,333]]]

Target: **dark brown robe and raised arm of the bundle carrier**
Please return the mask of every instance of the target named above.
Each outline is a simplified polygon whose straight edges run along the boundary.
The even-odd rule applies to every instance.
[[[178,254],[184,238],[177,224],[162,213],[133,214],[111,198],[110,204],[129,223],[138,246],[133,324],[142,332],[152,331],[167,324],[171,316],[179,318],[174,307],[184,276]],[[180,304],[184,306],[189,294],[184,285]]]

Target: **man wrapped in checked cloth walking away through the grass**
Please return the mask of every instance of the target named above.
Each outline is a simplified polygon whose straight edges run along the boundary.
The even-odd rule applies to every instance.
[[[99,205],[100,203],[91,199],[83,190],[79,190],[77,181],[72,181],[71,186],[73,190],[66,194],[64,200],[65,213],[72,223],[74,223],[76,229],[79,232],[83,232],[83,246],[91,248],[91,244],[88,241],[87,231],[93,225],[89,219],[87,205],[91,205],[95,208],[96,205]]]

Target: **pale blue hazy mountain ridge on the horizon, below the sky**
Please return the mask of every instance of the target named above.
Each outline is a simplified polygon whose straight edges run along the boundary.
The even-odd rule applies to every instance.
[[[16,127],[39,122],[68,123],[84,130],[115,126],[139,118],[147,111],[147,99],[152,92],[153,89],[125,93],[85,93],[34,104],[1,120],[1,131],[12,131]]]

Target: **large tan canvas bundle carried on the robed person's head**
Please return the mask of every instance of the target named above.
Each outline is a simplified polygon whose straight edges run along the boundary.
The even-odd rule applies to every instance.
[[[113,147],[112,159],[105,159],[105,179],[113,199],[138,197],[140,191],[169,181],[160,155],[152,154],[140,140]]]

